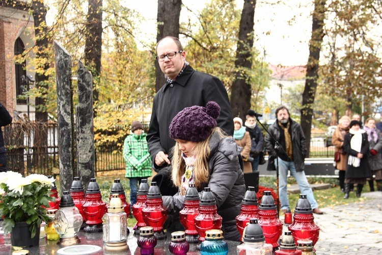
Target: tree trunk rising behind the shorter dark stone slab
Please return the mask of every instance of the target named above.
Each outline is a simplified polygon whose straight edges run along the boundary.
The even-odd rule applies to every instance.
[[[85,65],[93,75],[93,104],[98,103],[99,75],[101,73],[102,51],[102,0],[89,0],[86,23]],[[96,111],[93,110],[93,116]]]

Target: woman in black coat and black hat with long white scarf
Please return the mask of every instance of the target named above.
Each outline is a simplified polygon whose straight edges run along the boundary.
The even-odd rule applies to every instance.
[[[350,184],[357,184],[357,197],[360,197],[366,178],[371,177],[367,154],[369,141],[367,133],[361,130],[361,125],[358,120],[350,121],[349,133],[345,135],[343,141],[343,148],[347,154],[344,199],[349,197]]]

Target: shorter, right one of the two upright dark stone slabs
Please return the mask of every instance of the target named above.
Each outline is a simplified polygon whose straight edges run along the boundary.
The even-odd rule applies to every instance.
[[[94,178],[93,80],[78,61],[78,106],[76,106],[77,176],[84,187]]]

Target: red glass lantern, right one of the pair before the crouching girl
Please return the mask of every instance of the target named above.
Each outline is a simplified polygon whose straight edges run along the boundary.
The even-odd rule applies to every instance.
[[[195,227],[199,234],[199,244],[204,241],[207,230],[220,230],[222,228],[222,216],[217,214],[215,197],[209,187],[204,188],[199,203],[199,214],[195,217]]]

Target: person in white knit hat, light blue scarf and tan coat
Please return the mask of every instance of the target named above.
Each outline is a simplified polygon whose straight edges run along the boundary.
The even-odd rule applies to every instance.
[[[244,173],[252,172],[252,164],[253,158],[250,157],[251,151],[251,137],[250,133],[245,131],[245,127],[243,126],[243,121],[239,118],[233,118],[233,124],[235,130],[233,132],[233,138],[238,146],[242,149],[240,151],[241,157],[244,160]]]

